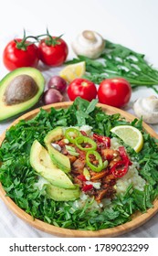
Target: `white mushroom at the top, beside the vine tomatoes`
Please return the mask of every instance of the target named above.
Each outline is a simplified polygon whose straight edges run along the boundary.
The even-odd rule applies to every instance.
[[[72,42],[72,48],[77,55],[97,59],[105,48],[105,40],[95,31],[84,30]]]

